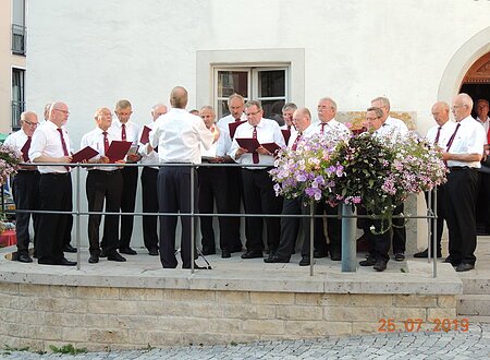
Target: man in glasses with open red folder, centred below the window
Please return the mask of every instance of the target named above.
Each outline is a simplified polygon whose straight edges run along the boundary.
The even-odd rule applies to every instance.
[[[280,214],[281,199],[275,196],[272,179],[269,170],[274,164],[273,154],[264,146],[254,152],[241,147],[237,139],[256,139],[259,144],[275,143],[285,146],[279,124],[270,119],[264,119],[264,110],[259,101],[249,100],[245,104],[247,122],[241,124],[235,132],[233,145],[229,155],[242,165],[262,165],[262,167],[242,168],[242,181],[244,189],[245,212],[247,214]],[[262,218],[247,217],[245,219],[245,233],[247,237],[247,251],[242,259],[264,256]],[[267,243],[269,256],[272,256],[279,245],[280,220],[279,218],[266,217]]]

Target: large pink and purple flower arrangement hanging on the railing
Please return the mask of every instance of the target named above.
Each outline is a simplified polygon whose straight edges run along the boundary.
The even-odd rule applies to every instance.
[[[389,220],[411,193],[445,182],[440,149],[415,135],[379,136],[365,132],[329,139],[314,135],[297,149],[280,151],[270,171],[275,193],[305,202],[360,204],[375,218]]]

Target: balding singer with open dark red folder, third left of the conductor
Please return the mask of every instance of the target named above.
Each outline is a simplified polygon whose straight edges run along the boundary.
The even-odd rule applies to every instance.
[[[109,158],[106,152],[110,146],[113,137],[108,133],[108,129],[112,123],[112,113],[108,108],[100,108],[95,113],[97,128],[86,133],[82,137],[81,148],[87,146],[94,148],[99,155],[88,160],[90,164],[108,164]],[[121,161],[124,163],[124,161]],[[106,212],[119,213],[121,206],[121,195],[123,179],[121,169],[117,167],[90,167],[87,168],[88,175],[86,180],[86,192],[89,212],[101,212],[103,203],[106,202]],[[88,215],[88,243],[90,257],[88,262],[96,264],[99,262],[100,243],[99,243],[99,228],[102,215]],[[118,251],[119,240],[119,214],[106,215],[103,220],[103,239],[102,250],[110,261],[124,262]]]

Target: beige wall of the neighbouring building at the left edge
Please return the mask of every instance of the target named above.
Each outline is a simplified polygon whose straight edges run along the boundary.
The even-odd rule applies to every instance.
[[[25,57],[12,55],[12,0],[0,1],[0,132],[11,131],[12,68],[25,69]]]

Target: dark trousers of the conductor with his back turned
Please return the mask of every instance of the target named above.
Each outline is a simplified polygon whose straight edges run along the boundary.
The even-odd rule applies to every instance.
[[[191,171],[194,171],[194,189],[191,189]],[[158,172],[159,213],[191,213],[191,191],[194,191],[194,209],[197,209],[197,173],[191,167],[162,166]],[[166,268],[175,268],[176,216],[160,215],[160,261]],[[180,216],[182,225],[182,267],[191,268],[191,217]]]

